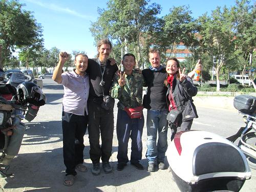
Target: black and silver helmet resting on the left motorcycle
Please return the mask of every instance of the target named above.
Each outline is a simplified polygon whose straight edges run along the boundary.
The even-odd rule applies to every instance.
[[[46,96],[42,90],[33,82],[23,82],[18,85],[18,100],[21,103],[30,103],[36,106],[46,104]]]

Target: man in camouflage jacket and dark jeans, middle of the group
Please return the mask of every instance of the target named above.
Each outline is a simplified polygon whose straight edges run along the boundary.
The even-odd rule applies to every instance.
[[[142,157],[142,131],[144,126],[144,116],[140,118],[130,118],[124,108],[136,108],[142,106],[143,75],[133,70],[136,64],[135,56],[127,53],[123,56],[122,65],[124,72],[120,72],[113,80],[111,96],[119,99],[117,103],[117,123],[116,132],[118,139],[118,165],[117,170],[122,170],[129,162],[127,147],[129,138],[132,139],[132,152],[130,162],[135,168],[143,170],[139,163]]]

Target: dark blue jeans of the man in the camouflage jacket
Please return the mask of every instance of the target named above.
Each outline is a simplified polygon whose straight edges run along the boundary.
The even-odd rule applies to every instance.
[[[137,163],[142,157],[142,132],[144,126],[144,117],[131,119],[126,111],[118,110],[116,133],[118,139],[118,163],[127,163],[127,147],[129,139],[132,140],[131,163]]]

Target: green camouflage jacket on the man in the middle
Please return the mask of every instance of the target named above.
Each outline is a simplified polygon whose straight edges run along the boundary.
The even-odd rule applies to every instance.
[[[111,96],[119,100],[118,109],[135,108],[142,106],[142,92],[145,84],[143,75],[133,70],[132,74],[125,75],[126,84],[121,88],[118,84],[119,75],[115,75],[112,83]]]

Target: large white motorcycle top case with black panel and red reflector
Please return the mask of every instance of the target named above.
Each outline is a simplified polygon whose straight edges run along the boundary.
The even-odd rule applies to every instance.
[[[210,132],[178,132],[166,156],[181,191],[239,191],[251,177],[240,148]]]

